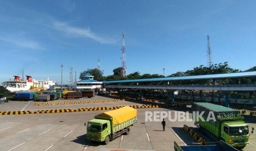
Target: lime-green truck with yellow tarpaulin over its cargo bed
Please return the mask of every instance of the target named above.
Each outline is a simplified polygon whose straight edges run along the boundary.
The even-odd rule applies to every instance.
[[[94,118],[87,124],[88,140],[108,144],[123,133],[129,134],[130,126],[137,123],[137,109],[126,106],[98,114]]]

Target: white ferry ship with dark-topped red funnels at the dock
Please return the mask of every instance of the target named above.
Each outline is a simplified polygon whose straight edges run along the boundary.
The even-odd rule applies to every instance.
[[[2,83],[2,86],[10,92],[29,91],[29,90],[47,90],[56,82],[53,80],[35,80],[30,75],[26,75],[26,81],[20,80],[20,77],[14,75],[14,79],[10,79]]]

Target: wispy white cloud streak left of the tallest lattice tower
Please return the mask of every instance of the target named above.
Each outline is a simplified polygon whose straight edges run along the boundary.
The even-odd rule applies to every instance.
[[[53,26],[56,30],[62,31],[64,33],[70,34],[72,36],[90,38],[100,43],[115,43],[116,40],[112,38],[103,38],[97,36],[94,32],[90,30],[90,28],[79,28],[79,27],[72,27],[67,25],[63,22],[55,21],[53,22]]]

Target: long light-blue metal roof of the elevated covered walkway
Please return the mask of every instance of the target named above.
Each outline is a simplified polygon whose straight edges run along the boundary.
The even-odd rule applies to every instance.
[[[133,80],[116,80],[105,81],[103,84],[111,83],[133,83],[133,82],[159,82],[159,81],[177,81],[177,80],[202,80],[202,79],[225,79],[225,78],[246,78],[256,77],[256,71],[253,72],[237,72],[223,74],[207,74],[207,75],[192,75],[184,77],[166,77],[166,78],[150,78],[150,79],[133,79]]]

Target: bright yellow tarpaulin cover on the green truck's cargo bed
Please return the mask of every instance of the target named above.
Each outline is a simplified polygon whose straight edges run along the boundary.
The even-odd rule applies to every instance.
[[[96,115],[96,117],[112,117],[113,126],[123,123],[129,119],[137,117],[137,109],[126,106],[113,111],[104,112]],[[96,118],[95,117],[95,118]]]

